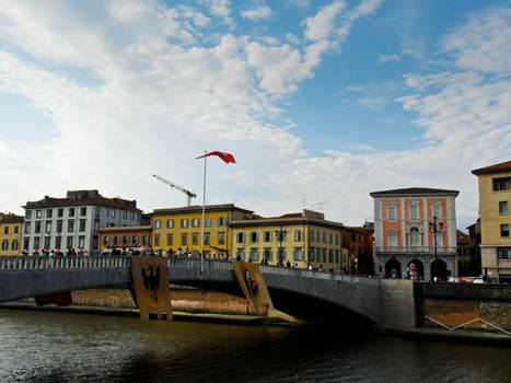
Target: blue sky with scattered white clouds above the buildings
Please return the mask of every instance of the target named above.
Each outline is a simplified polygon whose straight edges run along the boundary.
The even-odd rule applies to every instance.
[[[0,211],[98,189],[350,225],[369,193],[511,160],[511,3],[0,0]]]

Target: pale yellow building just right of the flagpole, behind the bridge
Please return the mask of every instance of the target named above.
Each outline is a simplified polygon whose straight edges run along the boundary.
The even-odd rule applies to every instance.
[[[341,223],[323,213],[303,210],[275,218],[233,221],[232,254],[244,260],[269,265],[298,264],[325,270],[341,268]]]

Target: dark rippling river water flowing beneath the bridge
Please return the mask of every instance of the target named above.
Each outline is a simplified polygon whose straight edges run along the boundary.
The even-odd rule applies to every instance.
[[[0,382],[511,382],[511,350],[350,334],[0,310]]]

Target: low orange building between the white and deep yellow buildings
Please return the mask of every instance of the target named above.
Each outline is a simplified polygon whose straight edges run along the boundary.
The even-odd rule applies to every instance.
[[[111,248],[143,249],[151,247],[152,227],[100,228],[100,252]]]

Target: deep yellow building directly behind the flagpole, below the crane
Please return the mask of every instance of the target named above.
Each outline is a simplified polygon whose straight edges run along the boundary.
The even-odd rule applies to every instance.
[[[201,206],[155,209],[151,216],[154,249],[200,252]],[[225,257],[232,246],[229,223],[252,217],[253,211],[232,204],[206,206],[204,246],[206,254]]]

